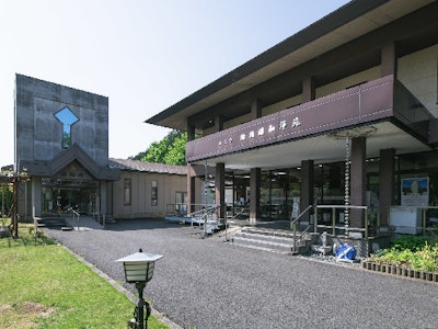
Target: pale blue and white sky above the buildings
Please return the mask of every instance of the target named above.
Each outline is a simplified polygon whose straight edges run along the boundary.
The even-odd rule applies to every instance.
[[[110,157],[170,129],[145,124],[346,0],[0,0],[0,166],[13,163],[21,73],[110,98]]]

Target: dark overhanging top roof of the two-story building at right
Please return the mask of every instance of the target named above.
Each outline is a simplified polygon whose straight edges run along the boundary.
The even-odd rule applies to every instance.
[[[206,111],[214,106],[218,106],[217,111],[220,112],[222,118],[227,115],[230,116],[227,120],[243,115],[250,111],[249,104],[241,104],[242,109],[239,109],[239,104],[235,102],[237,100],[234,100],[232,104],[220,106],[221,102],[237,97],[238,94],[249,92],[251,89],[262,86],[262,83],[266,83],[266,81],[275,77],[280,77],[281,73],[302,66],[313,58],[318,61],[320,56],[331,54],[333,49],[353,42],[354,39],[359,39],[359,37],[372,31],[378,31],[383,26],[390,25],[390,23],[420,8],[426,8],[426,5],[428,5],[429,9],[426,8],[426,12],[433,15],[436,12],[436,3],[437,2],[434,0],[350,1],[253,59],[250,59],[234,70],[187,95],[180,102],[148,118],[146,123],[186,131],[187,118],[189,118],[195,128],[205,129],[207,127],[206,123],[212,122],[211,117],[206,115]],[[436,29],[435,25],[429,24],[429,26],[430,29]],[[415,32],[415,29],[416,27],[410,27],[410,33],[404,37],[412,38],[412,33]],[[434,30],[430,31],[430,34],[427,34],[429,36],[429,42],[431,42],[436,35]],[[416,37],[414,39],[416,39]],[[358,43],[360,44],[362,41],[359,39]],[[377,59],[379,59],[380,56],[378,53],[376,55],[372,52],[368,52],[366,55],[371,56],[371,59],[374,59],[376,56]],[[366,60],[366,63],[369,60]],[[353,67],[355,67],[355,65],[353,65]],[[341,66],[337,69],[343,72],[345,67]],[[325,77],[325,79],[328,78]],[[281,83],[275,83],[274,89],[278,89],[279,84]],[[297,84],[297,88],[301,88],[301,82]],[[287,92],[289,97],[291,90],[291,87],[288,86]],[[251,101],[254,101],[253,93],[249,93],[247,97]],[[258,92],[257,99],[260,98],[261,94]],[[270,101],[276,102],[281,98],[275,98]],[[199,123],[196,121],[199,121]]]

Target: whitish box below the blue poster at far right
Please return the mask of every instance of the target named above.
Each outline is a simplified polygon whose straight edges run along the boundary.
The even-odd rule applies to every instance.
[[[407,206],[391,207],[390,226],[394,227],[394,232],[397,234],[419,234],[422,231],[422,209]]]

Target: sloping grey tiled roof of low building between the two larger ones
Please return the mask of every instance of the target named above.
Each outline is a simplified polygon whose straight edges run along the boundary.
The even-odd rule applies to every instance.
[[[165,163],[146,162],[130,159],[114,159],[110,158],[110,168],[117,168],[126,171],[141,171],[168,174],[187,174],[187,167],[174,166]]]

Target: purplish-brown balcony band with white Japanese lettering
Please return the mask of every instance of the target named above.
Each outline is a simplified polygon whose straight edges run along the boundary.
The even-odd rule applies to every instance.
[[[393,76],[187,143],[187,161],[265,147],[393,117]]]

